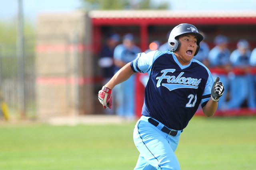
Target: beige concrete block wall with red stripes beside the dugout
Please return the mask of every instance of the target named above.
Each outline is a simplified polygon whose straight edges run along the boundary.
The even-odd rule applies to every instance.
[[[39,119],[92,114],[91,25],[86,12],[40,14],[36,104]]]

